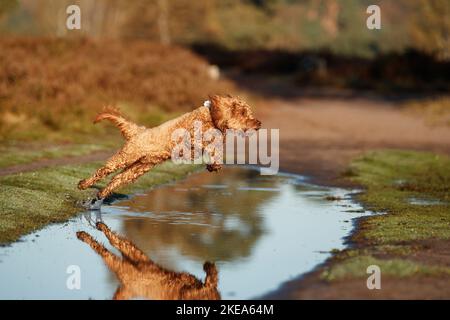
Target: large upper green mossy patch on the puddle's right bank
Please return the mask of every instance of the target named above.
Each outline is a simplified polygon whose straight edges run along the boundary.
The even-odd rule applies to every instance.
[[[356,238],[376,244],[450,239],[450,159],[412,151],[371,152],[351,165],[353,181],[366,191],[366,206],[388,215],[369,217]],[[422,205],[411,199],[431,200]],[[439,201],[439,202],[436,202]]]

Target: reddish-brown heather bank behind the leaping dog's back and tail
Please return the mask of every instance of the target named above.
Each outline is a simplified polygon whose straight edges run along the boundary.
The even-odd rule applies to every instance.
[[[0,40],[0,139],[85,141],[106,105],[153,126],[230,84],[180,47],[143,41]]]

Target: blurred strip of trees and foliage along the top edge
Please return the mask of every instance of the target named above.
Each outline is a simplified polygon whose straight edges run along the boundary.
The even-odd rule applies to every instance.
[[[91,37],[363,57],[413,48],[450,59],[448,0],[2,0],[0,32],[66,36],[69,4],[82,7],[79,33]],[[376,32],[365,27],[371,4],[382,8]]]

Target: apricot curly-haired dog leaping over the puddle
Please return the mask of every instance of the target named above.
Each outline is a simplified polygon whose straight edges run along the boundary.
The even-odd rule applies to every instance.
[[[101,203],[117,188],[135,181],[155,165],[171,158],[175,142],[172,133],[184,128],[190,133],[192,151],[195,146],[194,121],[202,123],[202,132],[216,128],[223,134],[227,129],[258,130],[261,122],[257,120],[250,107],[239,98],[231,96],[212,96],[202,107],[186,113],[176,119],[167,121],[155,128],[145,128],[126,120],[115,109],[105,109],[97,115],[94,123],[102,120],[112,121],[122,132],[126,142],[122,149],[114,154],[105,166],[98,169],[90,178],[81,180],[78,188],[86,189],[116,170],[122,169],[109,184],[97,193],[91,205]],[[201,148],[204,149],[205,143]],[[212,162],[207,165],[209,171],[221,169],[222,155],[213,155]],[[94,207],[92,209],[95,209]]]

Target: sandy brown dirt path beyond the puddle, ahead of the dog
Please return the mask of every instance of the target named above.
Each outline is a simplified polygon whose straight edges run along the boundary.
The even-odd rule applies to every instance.
[[[281,169],[328,185],[366,150],[401,148],[450,154],[450,127],[429,127],[392,102],[366,98],[268,99],[258,114],[280,129]]]

